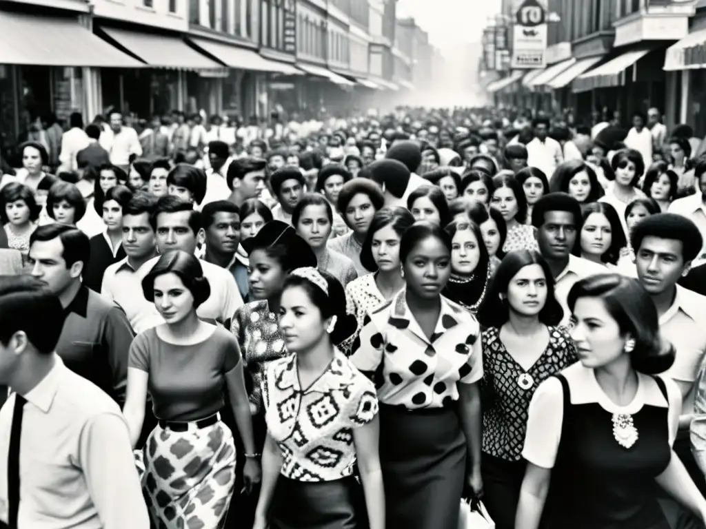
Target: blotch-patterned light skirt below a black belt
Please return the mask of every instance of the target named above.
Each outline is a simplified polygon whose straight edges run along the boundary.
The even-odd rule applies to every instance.
[[[186,432],[157,425],[135,454],[155,528],[225,527],[235,484],[235,446],[226,425]]]

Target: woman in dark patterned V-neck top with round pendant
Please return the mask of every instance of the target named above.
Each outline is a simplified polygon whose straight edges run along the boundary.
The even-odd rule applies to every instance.
[[[575,363],[554,278],[539,252],[505,255],[478,312],[483,342],[484,505],[498,529],[515,528],[525,475],[522,444],[537,386]]]

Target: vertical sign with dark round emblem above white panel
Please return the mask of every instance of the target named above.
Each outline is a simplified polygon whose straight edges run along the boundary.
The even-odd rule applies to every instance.
[[[546,68],[546,6],[539,0],[516,2],[512,68]]]

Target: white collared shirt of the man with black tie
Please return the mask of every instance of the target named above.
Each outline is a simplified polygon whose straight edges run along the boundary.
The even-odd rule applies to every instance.
[[[118,405],[54,355],[28,394],[20,438],[18,527],[148,529],[128,425]],[[16,394],[0,410],[0,519]]]

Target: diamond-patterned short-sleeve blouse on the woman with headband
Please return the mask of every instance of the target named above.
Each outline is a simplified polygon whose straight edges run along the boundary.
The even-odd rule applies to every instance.
[[[378,413],[375,387],[343,353],[302,389],[297,355],[270,363],[263,378],[268,432],[282,451],[280,473],[292,480],[324,482],[352,475],[353,430]]]

